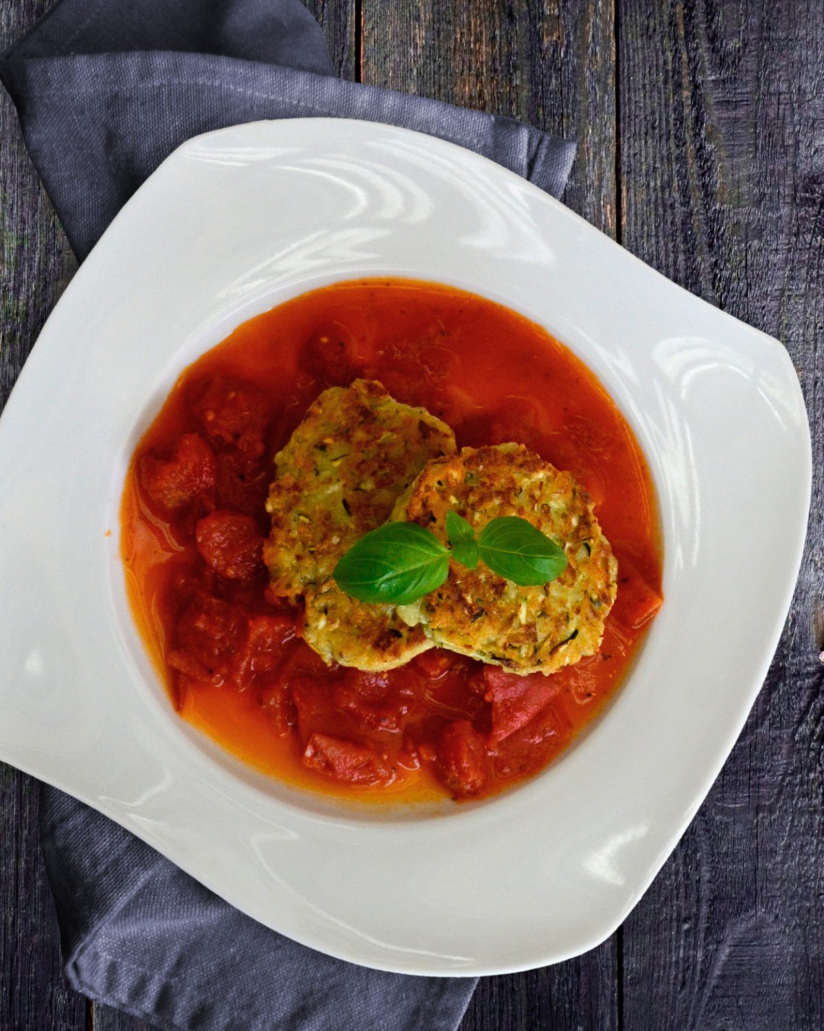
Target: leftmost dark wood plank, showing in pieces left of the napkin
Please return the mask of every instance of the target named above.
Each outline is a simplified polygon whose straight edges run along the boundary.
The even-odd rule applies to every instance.
[[[47,2],[0,7],[0,47]],[[0,91],[0,406],[5,402],[74,259]],[[37,783],[0,765],[0,1028],[81,1031],[87,1002],[63,976],[54,903],[37,833]]]

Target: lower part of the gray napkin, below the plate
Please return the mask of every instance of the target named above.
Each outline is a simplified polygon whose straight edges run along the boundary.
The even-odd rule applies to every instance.
[[[474,977],[383,973],[244,917],[54,788],[40,839],[72,988],[163,1028],[452,1031]]]

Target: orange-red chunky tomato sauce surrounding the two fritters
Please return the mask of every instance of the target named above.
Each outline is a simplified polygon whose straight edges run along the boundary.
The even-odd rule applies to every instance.
[[[357,377],[443,419],[458,447],[521,442],[586,487],[618,560],[597,655],[549,678],[441,650],[365,674],[300,639],[260,559],[272,458],[322,390]],[[435,284],[337,284],[240,326],[143,435],[121,520],[135,620],[180,716],[266,773],[349,797],[480,797],[536,773],[615,691],[660,605],[649,471],[605,389],[539,326]],[[514,730],[490,744],[500,704]]]

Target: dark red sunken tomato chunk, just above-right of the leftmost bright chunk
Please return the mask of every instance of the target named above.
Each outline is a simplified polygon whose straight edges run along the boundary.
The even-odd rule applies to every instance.
[[[259,387],[213,376],[193,390],[192,410],[211,440],[232,444],[249,458],[266,451],[272,403]]]

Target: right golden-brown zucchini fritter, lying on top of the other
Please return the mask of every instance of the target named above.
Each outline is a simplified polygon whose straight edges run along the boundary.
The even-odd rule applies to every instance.
[[[398,609],[436,644],[513,673],[552,673],[597,651],[615,600],[617,564],[589,495],[522,444],[465,447],[435,459],[394,506],[391,519],[418,523],[446,543],[452,508],[480,532],[499,516],[520,516],[566,555],[561,575],[519,587],[480,562],[452,561],[446,583]]]

